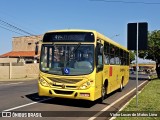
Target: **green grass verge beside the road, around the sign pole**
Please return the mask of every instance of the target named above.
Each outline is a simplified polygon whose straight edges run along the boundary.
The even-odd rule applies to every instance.
[[[128,113],[128,115],[135,113],[135,117],[121,116],[117,117],[116,120],[160,120],[160,79],[150,81],[138,95],[138,108],[136,107],[136,98],[133,98],[121,113]],[[159,115],[159,117],[153,114]]]

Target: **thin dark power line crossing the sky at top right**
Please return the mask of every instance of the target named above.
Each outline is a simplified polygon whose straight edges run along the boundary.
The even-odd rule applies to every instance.
[[[90,1],[99,1],[99,2],[108,2],[108,3],[124,3],[124,4],[152,4],[152,5],[158,5],[160,2],[138,2],[138,1],[124,1],[124,0],[90,0]]]

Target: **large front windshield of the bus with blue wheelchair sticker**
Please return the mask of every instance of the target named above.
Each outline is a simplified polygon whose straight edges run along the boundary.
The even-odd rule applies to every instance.
[[[94,68],[93,44],[42,45],[40,69],[55,75],[85,75]]]

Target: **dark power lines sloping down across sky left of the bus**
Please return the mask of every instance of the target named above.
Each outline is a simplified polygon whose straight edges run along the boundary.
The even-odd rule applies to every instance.
[[[33,36],[32,33],[29,33],[29,32],[27,32],[27,31],[25,31],[25,30],[23,30],[23,29],[21,29],[21,28],[18,28],[18,27],[16,27],[15,25],[12,25],[12,24],[4,21],[4,20],[1,20],[1,19],[0,19],[0,24],[3,25],[3,26],[5,26],[5,27],[7,27],[7,28],[5,28],[5,27],[2,27],[2,26],[1,26],[1,28],[4,28],[4,29],[6,29],[6,30],[15,32],[15,31],[11,30],[11,29],[14,29],[14,30],[16,30],[16,31],[19,31],[19,32],[25,33],[25,34],[27,34],[27,35]],[[10,28],[10,29],[8,29],[8,28]],[[16,33],[18,33],[18,32],[16,32]],[[18,33],[18,34],[19,34],[19,33]]]

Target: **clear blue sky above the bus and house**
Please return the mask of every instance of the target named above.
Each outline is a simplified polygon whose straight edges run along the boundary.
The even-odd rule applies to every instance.
[[[149,31],[160,29],[159,0],[114,1],[0,0],[0,20],[33,35],[57,29],[96,30],[125,47],[128,23],[148,22]],[[0,55],[12,50],[13,37],[28,36],[4,27],[0,22]]]

